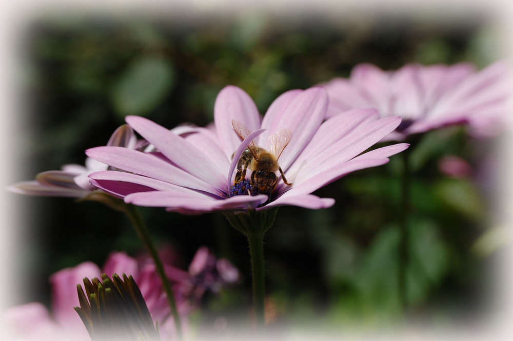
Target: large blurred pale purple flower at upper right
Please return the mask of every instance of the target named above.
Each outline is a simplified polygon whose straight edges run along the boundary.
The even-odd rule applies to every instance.
[[[468,124],[476,136],[491,136],[511,124],[511,85],[505,62],[478,72],[468,63],[408,64],[397,71],[360,64],[349,78],[325,85],[326,117],[352,108],[376,108],[382,117],[399,115],[403,121],[388,141],[453,124]]]

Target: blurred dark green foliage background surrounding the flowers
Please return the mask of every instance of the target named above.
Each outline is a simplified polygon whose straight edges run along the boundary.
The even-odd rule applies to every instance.
[[[187,12],[189,13],[189,12]],[[485,11],[408,15],[320,11],[284,16],[88,15],[66,11],[27,22],[20,44],[19,84],[24,118],[14,143],[19,167],[10,183],[63,164],[83,164],[84,150],[104,145],[124,123],[142,115],[172,128],[212,122],[216,94],[244,89],[263,114],[284,91],[348,76],[359,63],[397,69],[406,63],[462,61],[478,69],[503,57],[500,28]],[[424,135],[410,148],[412,206],[408,317],[426,326],[479,322],[494,305],[494,266],[501,253],[494,219],[496,141],[463,128]],[[444,156],[467,171],[448,176]],[[397,284],[400,160],[358,171],[318,191],[330,209],[282,207],[265,242],[267,317],[276,327],[314,325],[382,328],[401,320]],[[206,165],[208,167],[208,165]],[[50,304],[48,277],[86,260],[102,265],[113,250],[142,250],[129,221],[98,203],[7,194],[23,257],[22,304]],[[228,328],[250,315],[247,241],[222,214],[183,216],[142,208],[155,240],[170,244],[186,268],[200,246],[228,258],[242,282],[207,297],[193,325]]]

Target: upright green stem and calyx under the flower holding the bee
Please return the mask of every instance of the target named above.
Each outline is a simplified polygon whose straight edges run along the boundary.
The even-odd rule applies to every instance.
[[[264,235],[274,222],[277,211],[278,208],[271,208],[258,212],[248,210],[247,213],[225,213],[228,222],[248,238],[253,277],[253,304],[259,331],[263,331],[265,327]]]

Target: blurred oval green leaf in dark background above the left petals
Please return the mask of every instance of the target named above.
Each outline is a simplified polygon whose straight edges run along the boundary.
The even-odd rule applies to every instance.
[[[174,83],[171,64],[142,57],[128,66],[113,85],[112,102],[120,115],[147,115],[169,93]]]

